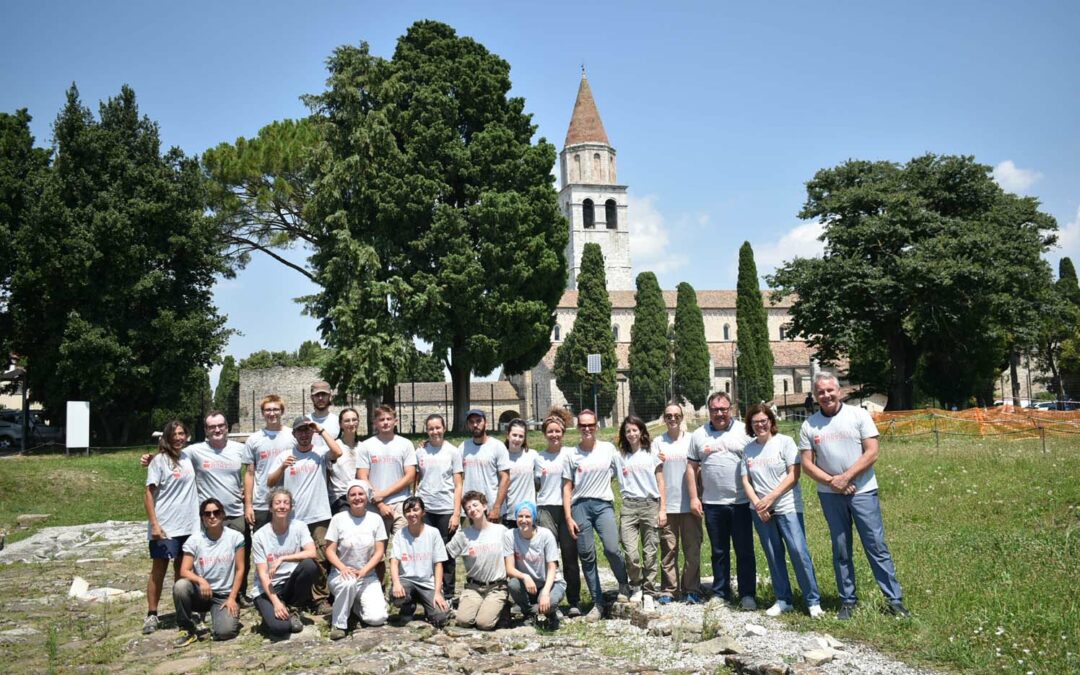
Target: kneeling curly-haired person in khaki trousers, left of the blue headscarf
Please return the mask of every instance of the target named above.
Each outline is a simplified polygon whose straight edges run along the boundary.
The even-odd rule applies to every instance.
[[[451,558],[465,561],[465,589],[458,600],[458,625],[494,631],[507,606],[507,565],[502,540],[507,528],[487,519],[487,496],[477,490],[462,498],[469,527],[459,529],[446,546]],[[447,563],[451,564],[451,563]]]

